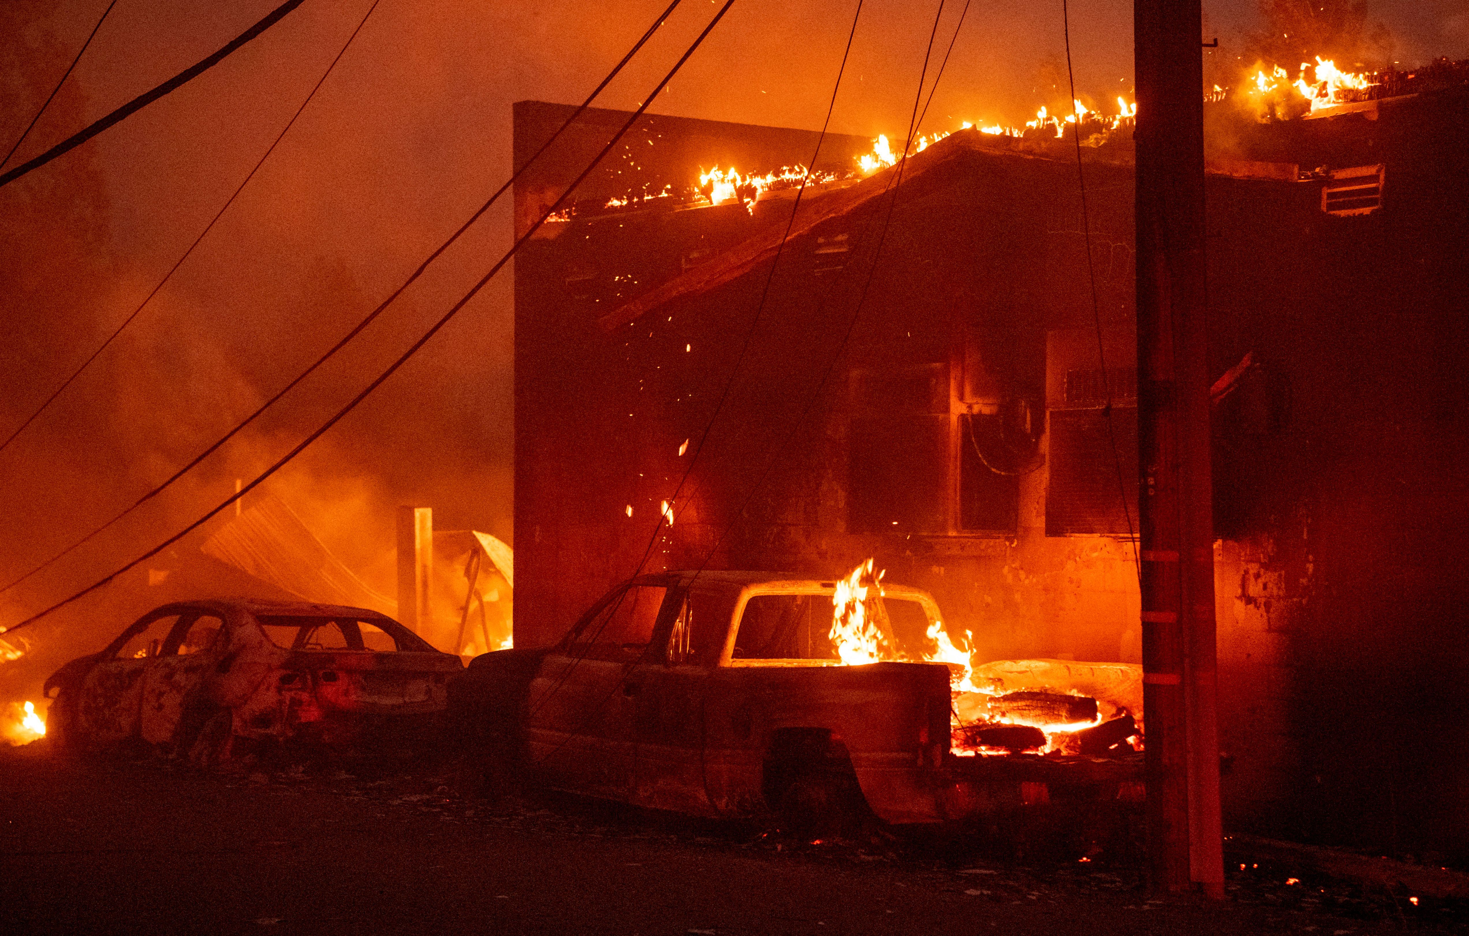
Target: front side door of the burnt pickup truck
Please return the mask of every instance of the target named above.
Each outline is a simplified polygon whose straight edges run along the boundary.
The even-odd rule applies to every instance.
[[[530,683],[526,739],[551,786],[627,799],[633,782],[636,688],[667,588],[627,585],[546,655]]]

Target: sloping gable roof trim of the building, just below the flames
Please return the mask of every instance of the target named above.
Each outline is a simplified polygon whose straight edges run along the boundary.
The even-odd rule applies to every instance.
[[[978,129],[964,129],[950,134],[945,140],[930,145],[923,153],[908,157],[903,169],[902,184],[909,184],[917,178],[936,172],[942,168],[968,159],[974,154],[984,156],[1018,156],[1022,159],[1044,159],[1052,162],[1075,162],[1074,144],[1064,140],[1022,140],[1018,137],[995,137],[981,134]],[[1131,168],[1134,165],[1131,148],[1119,145],[1083,148],[1083,162]],[[1299,176],[1293,163],[1259,163],[1246,160],[1209,160],[1206,170],[1210,175],[1221,175],[1240,179],[1274,179],[1294,182]],[[668,282],[645,292],[643,295],[618,306],[596,322],[604,331],[613,331],[623,325],[630,325],[643,314],[679,300],[686,295],[705,292],[724,285],[762,263],[774,259],[784,240],[796,240],[809,234],[820,223],[861,209],[862,206],[881,198],[889,191],[889,179],[898,172],[898,166],[890,166],[881,172],[862,179],[856,185],[837,188],[815,198],[802,198],[799,216],[790,226],[789,238],[783,223],[767,225],[759,234],[732,247],[721,256],[707,263],[674,276]],[[784,213],[780,215],[784,220]]]

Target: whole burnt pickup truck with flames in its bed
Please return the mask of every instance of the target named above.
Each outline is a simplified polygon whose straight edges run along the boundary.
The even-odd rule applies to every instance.
[[[1036,685],[1058,667],[1122,696],[1140,682],[1121,664],[971,669],[933,597],[870,561],[830,582],[670,572],[614,588],[555,647],[474,658],[450,717],[491,779],[707,817],[1140,799],[1140,698]]]

